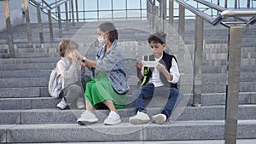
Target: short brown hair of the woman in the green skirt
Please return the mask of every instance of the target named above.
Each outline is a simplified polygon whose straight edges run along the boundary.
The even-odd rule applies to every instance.
[[[111,43],[113,43],[114,40],[118,40],[119,39],[119,33],[117,32],[115,26],[113,25],[113,23],[111,22],[103,22],[100,26],[98,26],[98,28],[102,31],[102,32],[109,32],[109,41]]]

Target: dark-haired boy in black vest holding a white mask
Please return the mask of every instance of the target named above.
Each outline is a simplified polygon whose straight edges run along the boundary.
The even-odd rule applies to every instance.
[[[163,124],[171,116],[172,109],[177,101],[179,89],[177,82],[180,73],[177,66],[177,60],[174,55],[166,54],[166,33],[156,32],[148,37],[153,55],[143,56],[143,61],[155,61],[154,66],[143,64],[143,61],[137,61],[137,77],[142,84],[139,89],[132,92],[136,115],[129,118],[131,124],[146,124],[150,121],[145,109],[144,99],[152,98],[154,95],[168,97],[164,109],[152,117],[155,124]],[[152,63],[151,63],[152,64]],[[150,64],[150,65],[151,65]]]

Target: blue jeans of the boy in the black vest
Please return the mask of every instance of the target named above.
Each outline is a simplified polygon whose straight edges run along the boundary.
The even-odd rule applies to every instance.
[[[145,84],[143,87],[132,91],[131,95],[134,100],[136,113],[146,110],[144,99],[151,99],[154,95],[165,96],[166,106],[160,113],[165,114],[169,118],[172,114],[172,109],[175,107],[179,89],[171,88],[170,86],[154,87],[154,84]]]

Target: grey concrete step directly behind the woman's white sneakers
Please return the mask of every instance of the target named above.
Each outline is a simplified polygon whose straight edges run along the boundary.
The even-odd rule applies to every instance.
[[[149,117],[158,114],[160,107],[147,107]],[[0,124],[76,124],[84,110],[67,109],[31,109],[31,110],[0,110]],[[179,111],[179,112],[177,112]],[[256,105],[240,105],[238,112],[239,120],[256,119]],[[102,123],[108,116],[109,110],[96,110],[94,113]],[[174,110],[176,116],[172,116],[172,121],[191,120],[224,120],[224,106],[204,106],[204,107],[183,107],[182,110]],[[135,108],[128,107],[119,109],[122,122],[128,123],[129,118],[135,115]]]

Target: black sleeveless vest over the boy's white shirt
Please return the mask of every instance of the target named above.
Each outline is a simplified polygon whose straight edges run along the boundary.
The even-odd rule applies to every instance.
[[[152,61],[154,60],[154,55],[144,55],[143,60],[148,60]],[[174,55],[168,55],[166,54],[166,52],[164,52],[162,59],[160,60],[160,64],[163,64],[164,66],[166,66],[166,70],[168,70],[168,72],[170,71],[170,68],[172,67],[172,58],[174,58],[174,60],[176,60],[176,57]],[[177,62],[177,60],[176,60]],[[143,78],[143,82],[142,82],[142,86],[144,84],[148,83],[148,80],[150,77],[152,77],[152,72],[153,72],[153,67],[147,67],[144,66],[144,78]],[[177,89],[177,84],[172,84],[169,83],[166,79],[166,76],[160,72],[160,80],[163,84],[167,85],[167,86],[171,86],[172,88],[176,88]]]

